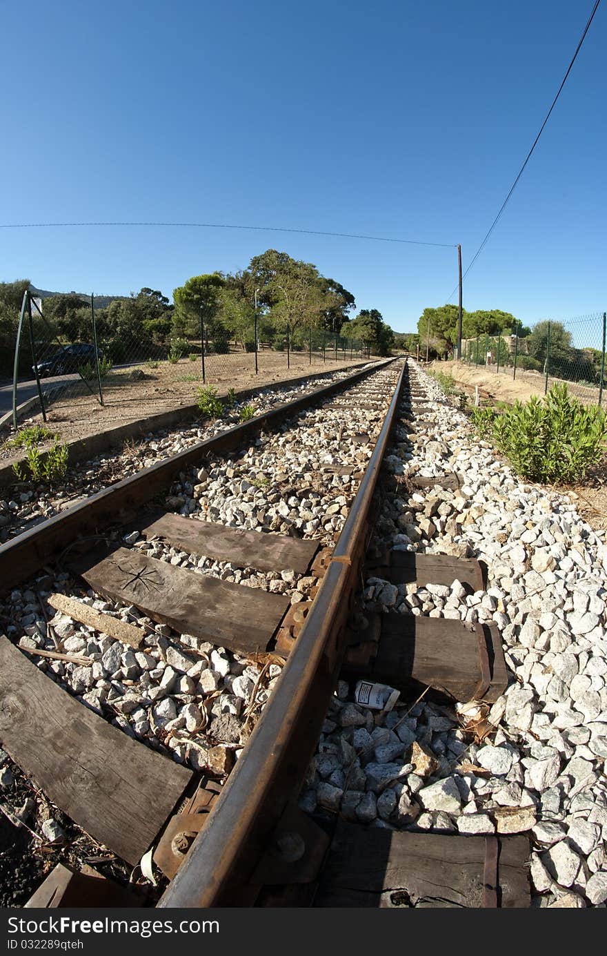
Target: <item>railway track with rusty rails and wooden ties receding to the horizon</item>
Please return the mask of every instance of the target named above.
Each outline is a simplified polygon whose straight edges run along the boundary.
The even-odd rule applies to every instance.
[[[402,831],[390,814],[359,826],[338,778],[327,784],[338,797],[325,788],[312,815],[298,805],[319,739],[347,729],[348,713],[376,758],[384,746],[388,702],[361,720],[347,696],[357,682],[389,684],[403,720],[420,693],[491,703],[508,682],[494,627],[369,613],[361,593],[370,575],[396,589],[483,589],[474,559],[374,539],[426,410],[402,363],[358,372],[0,549],[0,743],[103,848],[98,866],[144,858],[151,874],[153,859],[157,905],[529,904],[525,836]],[[454,480],[415,481],[423,494]],[[353,739],[342,746],[359,767]],[[385,756],[376,804],[398,780]],[[99,895],[119,904],[110,880],[59,863],[30,904]]]

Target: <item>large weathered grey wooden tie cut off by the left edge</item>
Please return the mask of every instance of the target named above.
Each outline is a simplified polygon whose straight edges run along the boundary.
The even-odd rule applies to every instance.
[[[192,777],[78,703],[5,637],[0,743],[57,807],[132,865]]]

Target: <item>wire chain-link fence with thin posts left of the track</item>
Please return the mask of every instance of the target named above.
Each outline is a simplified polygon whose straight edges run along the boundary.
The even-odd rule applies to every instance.
[[[38,396],[45,421],[52,404],[74,403],[79,396],[88,396],[89,404],[93,399],[134,407],[139,402],[141,416],[158,395],[186,399],[189,394],[193,402],[197,383],[231,387],[246,377],[277,380],[311,366],[318,371],[370,358],[369,347],[357,339],[312,325],[285,324],[276,330],[260,317],[234,334],[202,312],[199,321],[181,329],[163,303],[150,317],[149,302],[140,320],[133,305],[140,299],[141,293],[126,300],[128,312],[122,315],[115,303],[104,307],[100,296],[70,293],[40,300],[24,294],[14,348],[15,426],[26,385],[28,398]]]

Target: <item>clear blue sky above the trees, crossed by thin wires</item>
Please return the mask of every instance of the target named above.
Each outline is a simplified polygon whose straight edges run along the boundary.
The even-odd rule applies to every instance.
[[[592,6],[5,0],[0,222],[356,232],[461,243],[466,268]],[[466,309],[530,324],[607,308],[606,44],[603,3]],[[457,283],[452,248],[201,228],[0,229],[0,280],[170,296],[270,248],[398,331]]]

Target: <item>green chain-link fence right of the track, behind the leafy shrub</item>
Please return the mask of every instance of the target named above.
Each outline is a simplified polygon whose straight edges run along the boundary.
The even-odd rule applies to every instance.
[[[603,312],[565,321],[546,319],[525,336],[519,335],[520,326],[511,335],[483,333],[463,340],[462,360],[531,382],[538,393],[546,394],[555,382],[565,382],[583,402],[601,404],[603,393],[607,398],[606,324]]]

